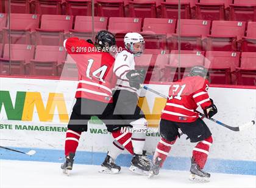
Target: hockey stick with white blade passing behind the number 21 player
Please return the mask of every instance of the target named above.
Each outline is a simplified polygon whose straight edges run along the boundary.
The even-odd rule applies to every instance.
[[[143,89],[149,90],[149,91],[152,92],[152,93],[155,93],[155,94],[157,94],[157,95],[159,95],[159,96],[162,96],[163,98],[168,99],[168,96],[163,95],[162,93],[159,93],[159,92],[157,92],[156,90],[150,89],[150,88],[147,87],[147,86],[143,86]],[[199,113],[199,115],[204,116],[203,113],[198,112],[197,110],[196,110],[196,112]],[[207,117],[205,117],[205,118],[207,118]],[[211,121],[213,121],[213,122],[215,122],[215,123],[217,123],[217,124],[219,124],[219,125],[221,125],[221,126],[223,126],[223,127],[226,127],[227,129],[233,130],[233,131],[241,131],[241,130],[247,129],[248,127],[253,126],[253,125],[255,124],[255,121],[252,120],[251,122],[246,123],[246,124],[243,124],[242,126],[239,126],[239,127],[231,127],[231,126],[228,126],[227,124],[224,124],[224,123],[222,123],[221,121],[218,121],[218,120],[216,120],[216,119],[213,119],[213,118],[207,118],[207,119],[209,119],[209,120],[211,120]]]

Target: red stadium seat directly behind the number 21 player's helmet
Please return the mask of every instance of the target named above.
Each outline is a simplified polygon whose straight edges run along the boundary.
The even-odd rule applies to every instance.
[[[168,81],[177,81],[178,67],[180,67],[180,78],[182,78],[195,65],[204,65],[203,51],[180,50],[179,53],[179,50],[172,50],[169,56],[169,64],[165,65],[164,77],[168,78]]]

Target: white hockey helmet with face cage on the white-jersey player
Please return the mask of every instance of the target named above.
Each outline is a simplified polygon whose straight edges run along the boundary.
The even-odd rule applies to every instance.
[[[136,43],[141,44],[140,50],[134,49],[133,45]],[[140,33],[126,33],[126,36],[124,36],[124,46],[135,56],[140,56],[143,53],[144,45],[145,41]]]

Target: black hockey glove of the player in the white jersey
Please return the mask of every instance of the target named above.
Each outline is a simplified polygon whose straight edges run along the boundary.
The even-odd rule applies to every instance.
[[[140,84],[143,84],[146,76],[146,70],[130,70],[126,73],[126,78],[129,79],[130,87],[140,89]]]

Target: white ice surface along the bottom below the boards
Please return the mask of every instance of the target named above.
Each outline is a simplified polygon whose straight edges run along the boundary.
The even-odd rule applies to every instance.
[[[126,167],[115,175],[98,172],[99,166],[74,164],[70,176],[60,169],[60,163],[0,160],[0,187],[256,187],[256,176],[212,173],[209,183],[193,183],[188,172],[162,170],[152,179],[135,175]]]

